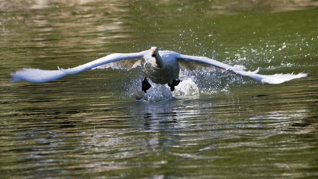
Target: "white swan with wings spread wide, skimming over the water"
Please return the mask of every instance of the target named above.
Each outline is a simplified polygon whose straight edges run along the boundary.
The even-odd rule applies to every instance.
[[[71,69],[62,69],[59,67],[58,70],[22,69],[10,73],[12,76],[10,82],[20,80],[35,83],[48,82],[68,74],[76,74],[88,69],[109,67],[113,69],[131,69],[137,66],[141,66],[145,75],[145,79],[142,83],[142,89],[145,92],[151,87],[147,78],[156,84],[168,84],[171,91],[173,91],[174,87],[180,82],[180,70],[218,71],[221,73],[224,71],[232,71],[268,84],[280,84],[293,79],[307,77],[305,73],[299,73],[297,75],[293,73],[259,75],[257,74],[259,68],[254,72],[246,72],[207,57],[182,55],[173,51],[159,51],[157,47],[152,47],[150,50],[138,53],[111,54]]]

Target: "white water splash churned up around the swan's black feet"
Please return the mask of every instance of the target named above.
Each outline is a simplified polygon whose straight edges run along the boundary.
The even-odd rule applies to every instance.
[[[180,84],[170,91],[167,85],[154,84],[149,80],[151,88],[147,93],[141,89],[142,79],[132,79],[130,84],[126,85],[129,97],[147,102],[172,99],[174,97],[194,96],[200,94],[211,95],[217,92],[229,91],[231,87],[238,87],[244,83],[250,83],[250,79],[241,77],[234,73],[225,72],[180,72]]]

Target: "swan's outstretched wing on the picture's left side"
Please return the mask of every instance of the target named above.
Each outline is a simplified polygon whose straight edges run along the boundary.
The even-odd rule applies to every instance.
[[[10,73],[10,82],[25,80],[28,82],[48,82],[62,78],[68,74],[76,74],[88,69],[95,68],[114,68],[114,69],[131,69],[140,66],[141,59],[149,50],[138,53],[117,53],[111,54],[100,59],[91,61],[84,65],[79,65],[71,69],[62,69],[58,67],[58,70],[41,70],[41,69],[22,69],[16,72]]]

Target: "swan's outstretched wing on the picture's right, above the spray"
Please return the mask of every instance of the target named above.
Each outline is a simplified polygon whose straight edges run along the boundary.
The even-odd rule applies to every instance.
[[[218,62],[216,60],[207,57],[189,56],[175,53],[176,59],[179,63],[181,70],[202,70],[202,71],[232,71],[242,76],[248,76],[255,80],[268,84],[281,84],[293,79],[307,77],[305,73],[299,73],[297,75],[292,74],[274,74],[274,75],[260,75],[257,74],[258,70],[254,72],[246,72],[244,70],[232,67],[230,65]]]

